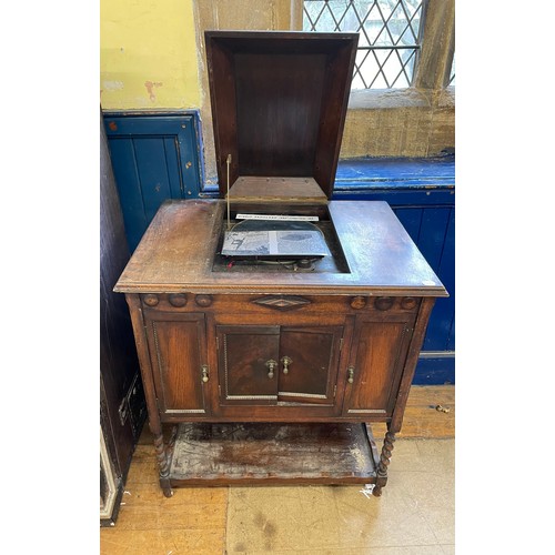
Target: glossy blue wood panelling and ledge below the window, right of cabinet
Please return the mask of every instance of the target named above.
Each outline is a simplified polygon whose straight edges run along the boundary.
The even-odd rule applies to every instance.
[[[333,199],[386,201],[442,280],[413,383],[455,383],[454,153],[340,161]]]

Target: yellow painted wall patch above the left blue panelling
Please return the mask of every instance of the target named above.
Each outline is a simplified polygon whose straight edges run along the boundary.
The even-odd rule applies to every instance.
[[[201,105],[192,0],[101,0],[103,110]]]

